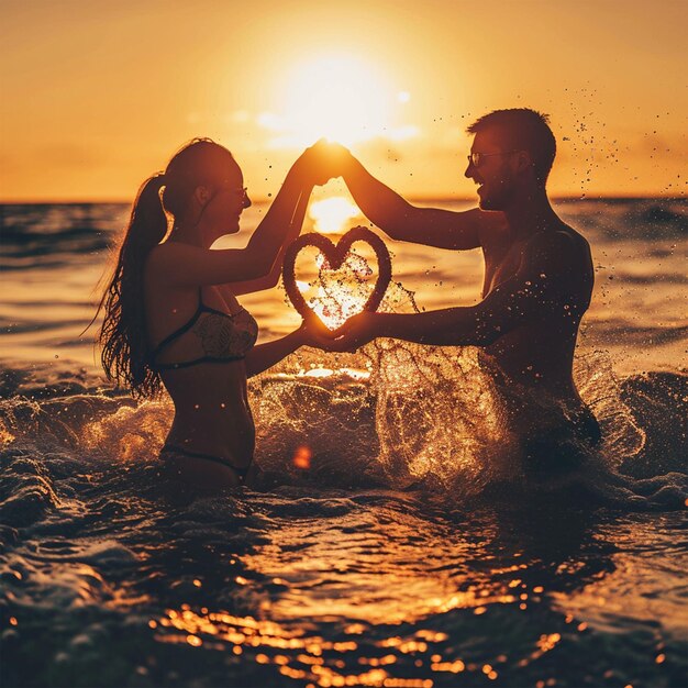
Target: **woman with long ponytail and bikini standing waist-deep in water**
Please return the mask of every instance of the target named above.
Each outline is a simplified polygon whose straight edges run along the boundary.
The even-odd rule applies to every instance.
[[[277,284],[313,185],[326,181],[315,176],[318,145],[291,167],[243,249],[210,251],[218,237],[238,232],[251,206],[232,154],[210,140],[181,148],[134,202],[100,303],[102,364],[108,379],[136,397],[167,389],[175,419],[162,457],[191,486],[222,489],[245,480],[255,441],[246,378],[306,343],[301,325],[255,346],[256,321],[236,297]]]

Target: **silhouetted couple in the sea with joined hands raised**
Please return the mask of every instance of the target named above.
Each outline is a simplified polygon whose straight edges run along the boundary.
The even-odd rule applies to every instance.
[[[320,142],[293,164],[242,249],[210,249],[238,232],[251,206],[226,148],[196,140],[143,184],[101,301],[99,340],[109,379],[140,397],[163,386],[169,392],[175,418],[162,457],[171,477],[207,489],[244,482],[255,444],[247,378],[303,345],[353,351],[375,337],[480,347],[526,465],[557,468],[563,444],[599,441],[572,371],[592,262],[586,240],[546,195],[556,152],[547,119],[529,109],[498,110],[468,132],[474,141],[464,174],[478,185],[479,208],[411,206],[346,148]],[[257,323],[237,297],[277,285],[313,187],[340,176],[390,237],[452,251],[480,247],[482,300],[423,313],[363,312],[335,332],[312,318],[256,345]]]

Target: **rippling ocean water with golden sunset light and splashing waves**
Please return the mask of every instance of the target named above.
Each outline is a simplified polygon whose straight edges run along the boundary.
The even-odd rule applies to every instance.
[[[576,479],[514,471],[475,349],[380,342],[249,380],[265,484],[180,501],[169,401],[84,331],[129,207],[0,206],[0,685],[686,685],[688,201],[555,210],[596,268]],[[478,252],[385,241],[395,308],[479,299]],[[299,323],[281,287],[241,301],[262,341]]]

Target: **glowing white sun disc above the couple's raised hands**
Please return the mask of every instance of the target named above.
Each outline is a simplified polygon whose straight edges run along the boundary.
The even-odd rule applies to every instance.
[[[324,136],[344,145],[385,135],[396,92],[373,65],[352,55],[321,55],[284,82],[277,145],[306,146]],[[270,122],[267,122],[268,126]]]

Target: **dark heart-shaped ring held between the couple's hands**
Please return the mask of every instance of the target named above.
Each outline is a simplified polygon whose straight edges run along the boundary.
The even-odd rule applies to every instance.
[[[387,251],[385,242],[377,234],[365,226],[356,226],[346,232],[336,246],[326,236],[313,232],[302,234],[287,248],[282,266],[282,279],[287,296],[301,318],[306,319],[311,315],[313,311],[297,287],[295,270],[299,252],[308,246],[314,246],[328,260],[330,269],[337,270],[342,267],[354,242],[366,242],[373,247],[377,257],[377,281],[375,282],[373,292],[362,309],[373,312],[377,310],[391,280],[391,258],[389,257],[389,251]]]

